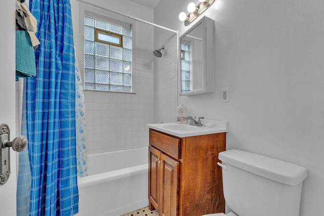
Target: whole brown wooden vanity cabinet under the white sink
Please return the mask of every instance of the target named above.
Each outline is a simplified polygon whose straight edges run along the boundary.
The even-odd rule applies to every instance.
[[[164,216],[225,211],[218,153],[226,133],[175,137],[149,130],[149,208]]]

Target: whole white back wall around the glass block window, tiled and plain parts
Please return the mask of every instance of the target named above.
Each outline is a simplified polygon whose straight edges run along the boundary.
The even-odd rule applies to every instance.
[[[83,0],[81,2],[87,2]],[[147,123],[153,122],[153,27],[125,19],[102,9],[153,20],[153,10],[131,1],[88,1],[100,9],[86,9],[102,16],[133,24],[133,86],[136,94],[85,91],[88,154],[138,148],[148,145]],[[84,41],[82,3],[71,0],[74,42],[84,77]],[[81,18],[81,19],[80,19]],[[81,22],[80,22],[81,20]]]

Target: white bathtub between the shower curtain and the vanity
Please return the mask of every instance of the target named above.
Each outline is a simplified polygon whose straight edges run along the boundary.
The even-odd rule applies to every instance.
[[[78,216],[117,216],[148,205],[148,149],[88,155],[78,178]]]

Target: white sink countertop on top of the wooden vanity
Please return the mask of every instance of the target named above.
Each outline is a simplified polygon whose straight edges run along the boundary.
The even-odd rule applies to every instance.
[[[179,123],[147,124],[156,131],[164,132],[177,137],[193,137],[206,134],[227,132],[227,121],[201,119],[203,126],[193,126]],[[208,125],[208,126],[207,126]]]

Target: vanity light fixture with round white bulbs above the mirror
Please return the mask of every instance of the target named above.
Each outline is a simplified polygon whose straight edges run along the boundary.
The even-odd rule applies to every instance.
[[[184,21],[184,25],[188,26],[192,23],[200,14],[204,13],[209,7],[213,5],[215,0],[198,0],[199,4],[189,3],[187,10],[188,14],[181,12],[179,14],[179,20]]]

